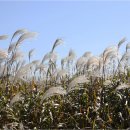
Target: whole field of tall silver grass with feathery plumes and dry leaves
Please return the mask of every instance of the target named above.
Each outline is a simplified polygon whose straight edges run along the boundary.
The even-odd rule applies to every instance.
[[[0,129],[130,129],[130,43],[100,56],[75,52],[57,65],[57,39],[41,60],[25,62],[20,46],[36,33],[17,30],[0,49]],[[7,35],[0,36],[0,42]],[[27,58],[26,58],[27,59]]]

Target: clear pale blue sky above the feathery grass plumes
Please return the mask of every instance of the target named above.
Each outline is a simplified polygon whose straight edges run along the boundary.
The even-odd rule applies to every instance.
[[[34,58],[42,58],[56,38],[64,45],[56,51],[60,57],[73,49],[77,56],[85,51],[100,54],[124,36],[130,41],[130,2],[128,1],[0,1],[0,35],[11,35],[20,28],[39,33],[21,48],[35,48]],[[9,40],[0,41],[7,48]]]

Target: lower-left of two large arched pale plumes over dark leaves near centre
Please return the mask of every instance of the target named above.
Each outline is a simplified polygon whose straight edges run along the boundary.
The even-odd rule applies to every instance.
[[[61,86],[51,87],[44,93],[42,101],[54,95],[65,95],[65,94],[66,90]]]

